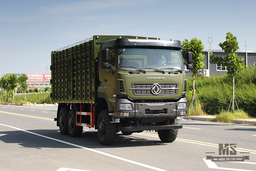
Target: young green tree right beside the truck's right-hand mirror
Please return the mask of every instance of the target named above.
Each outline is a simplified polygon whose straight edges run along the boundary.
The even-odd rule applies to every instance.
[[[193,78],[193,93],[192,93],[192,103],[193,103],[193,108],[194,108],[194,103],[195,103],[195,79],[198,76],[198,72],[204,67],[204,61],[202,61],[205,57],[205,55],[202,54],[202,51],[204,49],[204,45],[202,45],[202,41],[197,39],[197,38],[193,38],[191,39],[191,41],[188,41],[187,39],[185,39],[182,42],[182,48],[183,49],[189,49],[192,52],[192,56],[193,56],[193,69],[191,72],[191,76]],[[186,65],[186,51],[183,50],[182,51],[184,60],[185,60],[185,65]],[[191,108],[192,110],[192,108]]]

